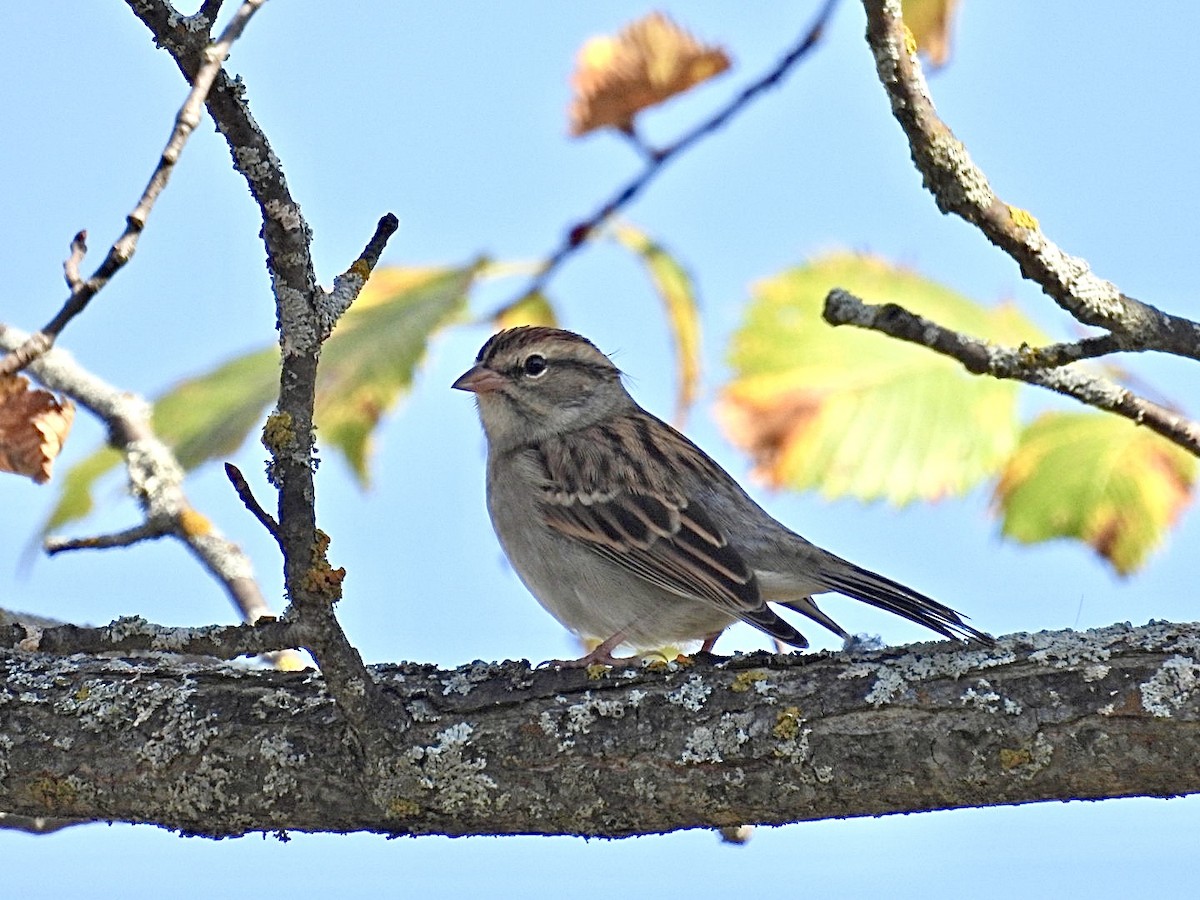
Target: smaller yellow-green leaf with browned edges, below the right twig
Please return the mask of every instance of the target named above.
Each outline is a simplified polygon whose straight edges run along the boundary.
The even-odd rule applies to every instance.
[[[996,486],[1004,535],[1076,538],[1116,571],[1139,569],[1192,499],[1196,460],[1104,413],[1049,413],[1021,433]]]

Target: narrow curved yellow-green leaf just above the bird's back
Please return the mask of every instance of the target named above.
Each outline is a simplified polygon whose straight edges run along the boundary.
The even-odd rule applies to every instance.
[[[700,308],[688,271],[660,244],[630,224],[613,226],[613,235],[637,253],[646,265],[654,289],[667,313],[667,326],[676,350],[677,424],[688,416],[700,390]]]

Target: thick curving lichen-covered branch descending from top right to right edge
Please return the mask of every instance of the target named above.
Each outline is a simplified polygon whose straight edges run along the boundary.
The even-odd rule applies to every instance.
[[[1001,200],[966,148],[938,118],[900,0],[863,0],[866,41],[892,112],[937,208],[971,222],[1079,322],[1120,337],[1120,349],[1151,349],[1200,360],[1200,324],[1122,294],[1088,264],[1055,245],[1037,220]]]

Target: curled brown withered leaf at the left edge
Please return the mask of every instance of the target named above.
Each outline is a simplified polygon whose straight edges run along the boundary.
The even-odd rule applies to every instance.
[[[72,421],[70,400],[30,390],[23,376],[0,378],[0,472],[28,475],[40,485],[49,481]]]

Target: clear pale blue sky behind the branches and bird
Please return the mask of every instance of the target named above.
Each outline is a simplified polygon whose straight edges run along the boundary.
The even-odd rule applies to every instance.
[[[61,263],[86,228],[95,265],[122,227],[182,101],[174,65],[124,4],[0,6],[0,319],[31,329],[61,302]],[[282,158],[316,232],[328,284],[394,211],[401,229],[384,262],[456,264],[486,253],[534,260],[638,167],[617,138],[566,138],[566,82],[577,46],[652,7],[433,5],[316,0],[268,4],[234,48],[256,118]],[[732,74],[646,118],[666,142],[757,76],[809,22],[812,6],[665,4],[698,36],[725,44]],[[1200,317],[1194,210],[1200,197],[1193,37],[1200,7],[1136,14],[1127,5],[966,2],[955,59],[932,79],[943,118],[1006,200],[1031,210],[1068,251],[1123,290]],[[731,472],[746,461],[709,415],[725,347],[750,286],[832,248],[869,250],[983,301],[1014,298],[1050,334],[1074,325],[1022,282],[1015,264],[971,227],[937,212],[878,86],[863,13],[844,4],[826,43],[776,91],[673,163],[628,210],[690,269],[701,293],[704,392],[691,434]],[[258,212],[205,120],[155,209],[138,256],[67,330],[64,346],[97,374],[154,395],[220,360],[270,343],[274,307],[257,239]],[[518,282],[474,298],[491,308]],[[635,395],[667,414],[671,360],[658,301],[636,260],[598,245],[551,283],[568,326],[617,353]],[[438,337],[412,396],[384,424],[362,493],[325,454],[322,527],[349,572],[340,606],[370,661],[454,666],[473,659],[541,660],[572,652],[565,634],[506,569],[482,503],[482,439],[468,397],[449,390],[486,337]],[[1188,407],[1195,365],[1126,361]],[[1024,409],[1066,408],[1028,392]],[[1196,414],[1193,406],[1190,412]],[[100,427],[77,422],[62,464],[83,458]],[[263,452],[234,458],[247,474]],[[258,481],[260,496],[265,496]],[[280,595],[270,539],[241,509],[218,467],[190,482],[196,505],[240,541],[264,589]],[[0,605],[77,622],[143,614],[166,624],[228,622],[233,611],[187,553],[169,542],[19,562],[54,487],[5,479]],[[120,482],[102,490],[88,532],[132,523]],[[811,540],[912,583],[994,634],[1195,618],[1200,524],[1187,515],[1141,574],[1120,580],[1085,548],[1003,542],[986,491],[893,510],[814,496],[758,497]],[[78,533],[78,532],[76,532]],[[893,643],[917,626],[851,601],[826,608],[852,631]],[[810,634],[810,637],[824,638]],[[720,649],[754,649],[734,630]],[[832,642],[816,646],[832,647]],[[703,884],[760,893],[792,884],[841,895],[1126,895],[1192,884],[1196,800],[1043,804],[760,829],[746,847],[708,833],[630,841],[440,839],[385,841],[298,835],[211,844],[152,828],[92,826],[31,839],[0,833],[14,895],[169,889],[212,895],[238,884],[337,887],[424,896],[473,887],[490,894],[569,889],[679,890]],[[865,851],[865,852],[864,852]],[[70,866],[61,860],[71,859]],[[130,881],[138,860],[140,883]],[[914,863],[918,872],[913,871]],[[86,882],[82,874],[86,872]],[[184,883],[180,874],[187,872]]]

